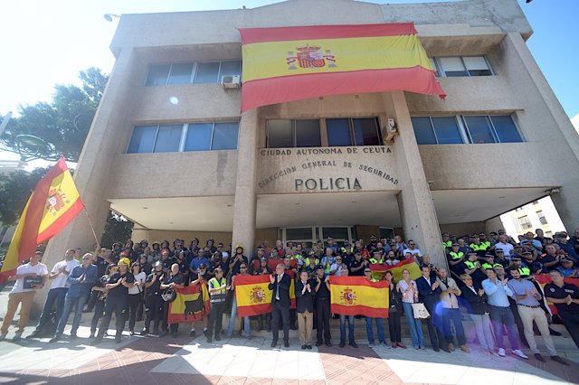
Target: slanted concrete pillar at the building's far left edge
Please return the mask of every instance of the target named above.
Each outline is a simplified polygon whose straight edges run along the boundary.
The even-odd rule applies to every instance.
[[[130,68],[134,66],[131,50],[119,52],[115,66],[109,76],[103,102],[90,126],[89,135],[82,148],[79,164],[73,175],[74,183],[81,194],[94,226],[97,239],[100,241],[109,214],[109,202],[106,200],[107,174],[112,167],[113,155],[118,151],[119,127],[123,127],[126,111],[117,106],[119,100],[129,99],[133,83]],[[107,97],[107,95],[112,95]],[[86,146],[90,144],[90,146]],[[86,212],[81,212],[56,237],[51,239],[44,254],[43,263],[50,269],[64,258],[66,249],[82,248],[92,251],[95,243]],[[34,297],[33,315],[36,315],[48,293],[47,285]]]

